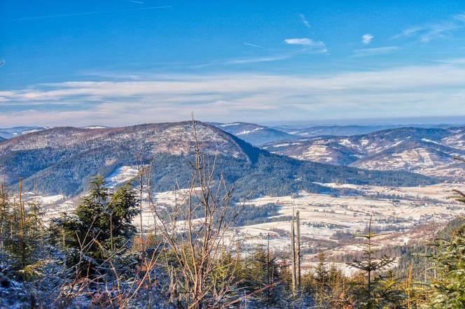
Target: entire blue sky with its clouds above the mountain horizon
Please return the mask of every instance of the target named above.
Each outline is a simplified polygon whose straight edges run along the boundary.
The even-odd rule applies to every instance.
[[[0,127],[465,115],[465,2],[0,2]]]

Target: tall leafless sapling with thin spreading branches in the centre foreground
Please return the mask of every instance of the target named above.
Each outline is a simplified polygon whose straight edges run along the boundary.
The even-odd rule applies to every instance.
[[[223,175],[215,177],[216,157],[201,151],[193,120],[193,173],[187,190],[176,195],[172,208],[158,208],[149,194],[155,213],[155,229],[167,243],[166,263],[171,302],[176,306],[203,308],[221,306],[232,291],[238,252],[225,252],[225,238],[244,203],[232,206],[234,186]]]

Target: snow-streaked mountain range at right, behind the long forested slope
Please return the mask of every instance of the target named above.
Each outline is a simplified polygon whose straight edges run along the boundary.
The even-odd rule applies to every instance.
[[[354,136],[292,138],[268,143],[263,149],[327,164],[455,179],[463,177],[453,157],[465,155],[465,127],[401,127]]]

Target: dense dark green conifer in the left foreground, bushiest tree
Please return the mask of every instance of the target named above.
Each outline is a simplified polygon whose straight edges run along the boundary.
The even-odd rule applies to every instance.
[[[95,273],[109,257],[123,254],[137,231],[132,219],[139,213],[139,200],[132,185],[120,187],[113,194],[104,178],[97,175],[90,182],[90,193],[83,197],[72,215],[54,220],[57,243],[68,249],[68,265],[76,272]]]

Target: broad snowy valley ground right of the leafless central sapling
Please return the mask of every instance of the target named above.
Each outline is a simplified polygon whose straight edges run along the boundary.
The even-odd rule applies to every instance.
[[[249,248],[266,245],[270,233],[270,247],[273,250],[289,250],[291,222],[288,219],[293,210],[300,211],[300,230],[303,247],[325,246],[324,243],[337,240],[332,238],[337,232],[360,233],[368,226],[373,215],[373,227],[381,229],[383,245],[405,245],[422,235],[410,232],[412,227],[427,222],[445,222],[464,214],[459,203],[450,199],[452,188],[465,189],[465,185],[440,184],[428,187],[376,187],[359,185],[322,184],[328,187],[344,187],[363,191],[367,196],[329,196],[300,192],[298,196],[263,196],[248,201],[247,205],[263,206],[274,203],[280,207],[274,219],[268,222],[238,227],[237,235],[242,236]],[[377,194],[399,196],[398,199],[377,198]],[[324,242],[324,243],[321,243]],[[320,244],[319,244],[320,243]],[[360,252],[359,245],[336,247],[328,252],[337,256],[350,252]],[[311,256],[305,257],[304,260]]]

